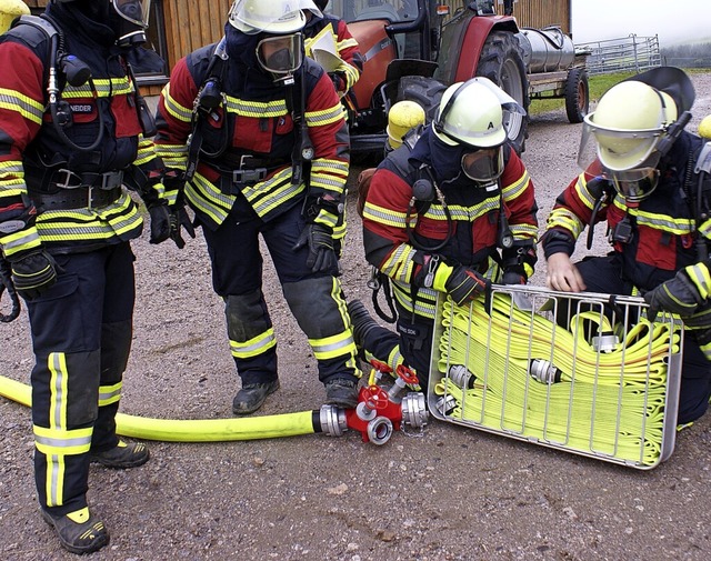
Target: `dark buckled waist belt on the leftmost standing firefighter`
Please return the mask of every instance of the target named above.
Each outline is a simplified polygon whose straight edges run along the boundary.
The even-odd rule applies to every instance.
[[[114,203],[123,192],[123,171],[74,173],[54,171],[43,189],[29,188],[34,206],[43,210],[100,209]]]

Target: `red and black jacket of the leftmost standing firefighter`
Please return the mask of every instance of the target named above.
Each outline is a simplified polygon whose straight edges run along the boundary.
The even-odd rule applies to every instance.
[[[87,148],[103,121],[103,139],[81,151],[58,133],[48,107],[50,36],[22,22],[0,36],[0,246],[10,260],[40,247],[69,253],[137,238],[143,221],[121,184],[136,172],[134,163],[146,173],[159,168],[151,142],[142,138],[136,84],[113,31],[78,20],[81,14],[64,4],[50,4],[48,13],[62,30],[64,52],[86,63],[92,77],[73,87],[59,72],[63,118],[71,120],[63,131]],[[162,184],[154,189],[162,197]]]

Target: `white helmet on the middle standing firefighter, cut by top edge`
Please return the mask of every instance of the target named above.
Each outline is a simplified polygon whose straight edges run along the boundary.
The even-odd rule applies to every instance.
[[[321,16],[312,0],[236,0],[228,20],[248,36],[261,32],[287,34],[301,31],[307,19],[301,10]]]

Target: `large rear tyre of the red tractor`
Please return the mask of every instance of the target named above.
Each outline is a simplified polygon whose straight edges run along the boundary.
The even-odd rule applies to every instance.
[[[527,114],[504,111],[503,122],[518,153],[525,150],[528,138],[529,84],[519,41],[509,31],[492,31],[481,49],[477,76],[489,78],[511,96]]]

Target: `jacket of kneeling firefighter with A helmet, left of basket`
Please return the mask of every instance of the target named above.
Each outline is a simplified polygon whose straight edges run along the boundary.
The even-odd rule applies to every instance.
[[[405,143],[378,167],[363,208],[365,258],[391,279],[400,310],[428,320],[434,319],[437,292],[413,282],[428,254],[439,254],[450,266],[470,267],[494,281],[502,264],[528,278],[535,263],[538,208],[523,162],[504,147],[500,187],[488,190],[461,172],[464,152],[444,144],[428,127],[412,152]],[[425,167],[430,171],[423,174]],[[441,196],[430,202],[414,201],[413,183],[430,178]],[[502,211],[514,244],[501,253]]]

